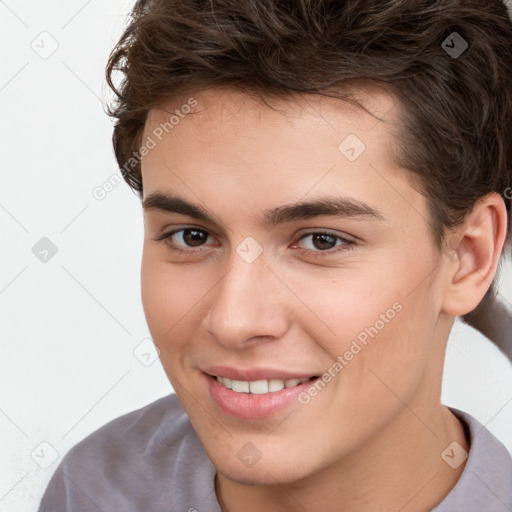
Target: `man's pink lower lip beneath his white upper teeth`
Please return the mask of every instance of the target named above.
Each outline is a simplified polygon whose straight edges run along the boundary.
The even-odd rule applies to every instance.
[[[219,408],[230,416],[243,419],[258,419],[272,416],[298,402],[298,396],[308,389],[313,380],[262,395],[237,393],[225,388],[215,377],[205,374],[210,394]]]

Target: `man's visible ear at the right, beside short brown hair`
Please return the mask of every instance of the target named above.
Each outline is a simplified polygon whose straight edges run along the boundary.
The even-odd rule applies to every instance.
[[[461,316],[475,309],[496,274],[507,234],[507,209],[492,192],[481,197],[448,237],[446,288],[442,310]]]

